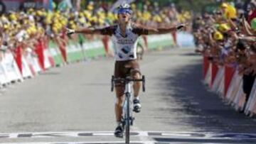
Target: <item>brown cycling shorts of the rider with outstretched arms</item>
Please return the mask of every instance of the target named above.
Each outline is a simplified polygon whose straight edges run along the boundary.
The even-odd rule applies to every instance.
[[[137,72],[141,74],[137,60],[116,61],[114,64],[114,77],[116,78],[125,78]],[[118,85],[118,82],[116,82],[115,86],[117,87]]]

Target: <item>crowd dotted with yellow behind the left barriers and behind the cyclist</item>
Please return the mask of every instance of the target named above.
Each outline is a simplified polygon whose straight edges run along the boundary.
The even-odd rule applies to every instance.
[[[1,52],[13,50],[20,45],[23,50],[33,50],[36,43],[48,43],[53,40],[60,50],[65,49],[69,39],[94,40],[94,35],[74,35],[73,38],[65,35],[65,28],[94,27],[116,23],[117,16],[110,11],[113,4],[88,1],[79,11],[46,9],[24,9],[23,11],[7,11],[0,16],[0,45]],[[176,10],[174,4],[159,6],[157,2],[145,1],[140,6],[131,4],[134,11],[133,21],[146,26],[164,26],[189,21],[191,14],[188,11]],[[176,37],[175,33],[173,35]],[[98,36],[96,38],[99,38]],[[104,38],[103,38],[104,39]],[[146,42],[146,38],[143,38]],[[105,40],[109,40],[105,38]],[[174,38],[176,42],[176,38]]]

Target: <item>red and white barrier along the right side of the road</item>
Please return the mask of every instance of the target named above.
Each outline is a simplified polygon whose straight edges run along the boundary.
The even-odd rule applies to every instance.
[[[256,81],[248,101],[245,101],[246,94],[243,92],[242,76],[233,65],[220,66],[209,62],[208,57],[203,57],[203,83],[212,92],[216,92],[236,111],[243,111],[247,116],[254,116],[256,113]]]

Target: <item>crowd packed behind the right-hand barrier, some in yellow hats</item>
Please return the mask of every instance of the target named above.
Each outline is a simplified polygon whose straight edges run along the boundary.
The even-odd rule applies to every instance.
[[[242,9],[244,6],[246,9]],[[196,52],[239,71],[247,101],[256,75],[256,1],[245,5],[223,3],[214,13],[197,16],[193,35]]]

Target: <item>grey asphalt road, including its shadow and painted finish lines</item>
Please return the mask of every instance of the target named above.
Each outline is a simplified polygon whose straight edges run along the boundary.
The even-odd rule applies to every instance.
[[[201,83],[193,49],[148,52],[132,143],[256,143],[255,119]],[[114,60],[57,67],[0,89],[0,143],[124,143],[114,138]]]

